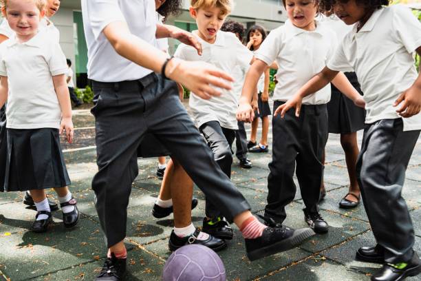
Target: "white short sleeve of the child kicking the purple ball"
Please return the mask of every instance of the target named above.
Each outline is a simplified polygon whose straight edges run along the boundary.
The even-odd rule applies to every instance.
[[[87,18],[91,23],[95,39],[100,37],[102,30],[115,21],[126,21],[118,0],[87,0]]]

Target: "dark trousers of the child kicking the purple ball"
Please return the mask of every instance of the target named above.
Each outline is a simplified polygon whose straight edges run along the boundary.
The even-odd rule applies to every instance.
[[[149,74],[138,81],[93,83],[98,173],[92,180],[96,210],[107,247],[126,236],[131,184],[138,175],[137,149],[150,132],[229,221],[250,209],[219,168],[188,116],[177,85]]]

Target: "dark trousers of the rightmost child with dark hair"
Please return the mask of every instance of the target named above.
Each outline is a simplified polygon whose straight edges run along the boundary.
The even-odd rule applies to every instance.
[[[402,198],[405,171],[420,131],[403,132],[402,119],[385,119],[364,130],[356,165],[365,211],[385,262],[407,262],[413,255],[414,233]]]

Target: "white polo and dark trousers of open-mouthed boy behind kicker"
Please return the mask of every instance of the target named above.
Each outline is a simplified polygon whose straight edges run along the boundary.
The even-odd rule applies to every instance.
[[[181,44],[175,51],[175,57],[186,61],[206,61],[228,73],[232,73],[237,65],[248,67],[252,61],[252,52],[242,45],[232,32],[217,32],[213,44],[201,39],[197,31],[193,32],[193,35],[202,44],[202,55],[199,56],[193,47]],[[233,164],[231,146],[238,129],[235,116],[238,108],[237,92],[222,90],[221,96],[213,96],[208,100],[191,93],[188,103],[196,125],[212,149],[215,160],[230,178]],[[206,216],[216,218],[220,214],[215,201],[206,198]]]

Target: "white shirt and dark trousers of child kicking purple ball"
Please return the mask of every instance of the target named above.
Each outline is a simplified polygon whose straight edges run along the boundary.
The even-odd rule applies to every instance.
[[[92,189],[107,247],[126,236],[131,183],[138,175],[136,151],[147,132],[169,149],[206,197],[218,202],[228,220],[250,209],[215,162],[180,102],[175,82],[123,59],[102,33],[109,23],[125,21],[133,34],[153,45],[155,1],[83,0],[82,12],[95,92],[91,112],[99,171]]]

